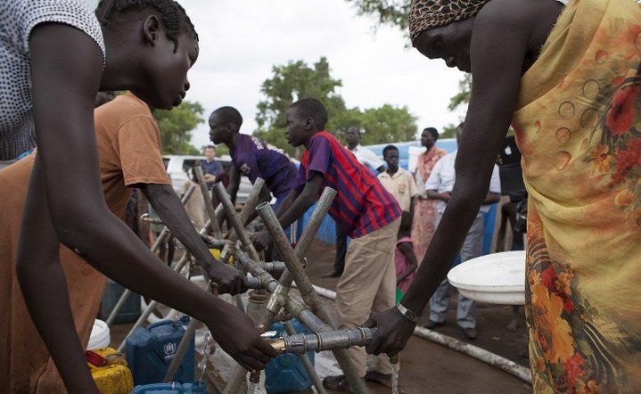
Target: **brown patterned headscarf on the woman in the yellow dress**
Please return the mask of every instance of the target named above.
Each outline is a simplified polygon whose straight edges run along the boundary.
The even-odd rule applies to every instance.
[[[409,36],[476,15],[489,0],[413,0],[409,13]]]

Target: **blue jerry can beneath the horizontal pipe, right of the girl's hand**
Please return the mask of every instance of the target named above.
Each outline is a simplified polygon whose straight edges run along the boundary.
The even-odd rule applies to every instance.
[[[296,319],[292,319],[292,325],[297,333],[312,333],[306,326],[300,324]],[[286,335],[283,324],[275,323],[270,328],[271,331],[278,332],[276,336]],[[314,352],[308,352],[309,361],[314,365]],[[312,380],[305,366],[300,361],[300,357],[295,354],[286,353],[272,359],[265,369],[265,389],[269,394],[304,391],[312,386]]]

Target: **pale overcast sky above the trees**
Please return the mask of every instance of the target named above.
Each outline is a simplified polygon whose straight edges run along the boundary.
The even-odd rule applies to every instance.
[[[188,100],[200,102],[205,119],[223,105],[242,113],[242,132],[257,127],[260,84],[273,65],[327,57],[339,93],[348,107],[383,103],[402,106],[417,126],[439,130],[456,123],[461,111],[448,111],[463,73],[406,48],[407,32],[382,27],[358,16],[344,0],[182,0],[200,36],[201,53],[190,70]],[[209,143],[209,126],[193,132],[192,143]]]

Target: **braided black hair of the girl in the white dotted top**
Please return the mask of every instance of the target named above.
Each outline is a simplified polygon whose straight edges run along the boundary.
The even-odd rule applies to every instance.
[[[178,37],[181,33],[191,33],[193,39],[198,41],[198,33],[193,27],[185,9],[174,0],[101,0],[95,10],[95,16],[104,27],[109,27],[117,14],[147,9],[159,12],[160,23],[165,29],[168,39],[174,43],[174,53],[178,48]]]

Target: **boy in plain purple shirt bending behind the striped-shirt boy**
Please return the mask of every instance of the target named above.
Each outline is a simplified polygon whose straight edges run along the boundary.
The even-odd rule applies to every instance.
[[[260,177],[265,180],[265,187],[259,201],[270,201],[271,192],[276,199],[274,209],[278,209],[292,190],[298,170],[283,151],[255,136],[241,134],[241,126],[241,113],[234,107],[220,107],[211,113],[210,140],[226,144],[232,157],[227,192],[235,201],[242,174],[250,178],[251,184]],[[250,221],[256,215],[252,210]]]

